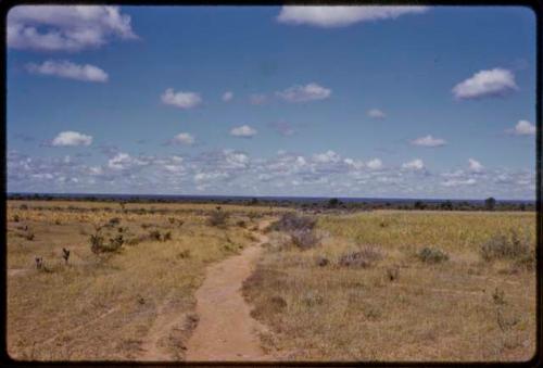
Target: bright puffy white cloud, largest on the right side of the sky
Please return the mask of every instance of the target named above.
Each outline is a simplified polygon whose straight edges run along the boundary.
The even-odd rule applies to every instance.
[[[510,71],[496,67],[480,71],[470,78],[457,84],[453,88],[453,94],[457,99],[480,99],[504,96],[517,89],[515,75]]]

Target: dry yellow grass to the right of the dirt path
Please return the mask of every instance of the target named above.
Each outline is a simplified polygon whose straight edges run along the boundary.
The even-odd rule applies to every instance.
[[[535,352],[535,272],[485,263],[479,246],[509,228],[534,246],[533,213],[371,212],[319,217],[320,246],[285,246],[272,233],[245,283],[264,346],[285,360],[528,360]],[[372,245],[383,256],[343,267]],[[426,264],[422,246],[446,252]],[[318,266],[319,257],[329,261]],[[390,280],[389,272],[397,271]],[[501,294],[503,293],[503,297]]]

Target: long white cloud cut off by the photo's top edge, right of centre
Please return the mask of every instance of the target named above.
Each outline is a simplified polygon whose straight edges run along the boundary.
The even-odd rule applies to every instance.
[[[318,27],[342,27],[358,22],[396,18],[418,14],[428,7],[282,7],[277,21],[287,24],[307,24]]]

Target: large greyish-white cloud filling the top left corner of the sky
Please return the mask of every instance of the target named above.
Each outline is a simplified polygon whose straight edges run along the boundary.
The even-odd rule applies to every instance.
[[[112,38],[137,38],[118,7],[20,5],[8,14],[8,46],[14,49],[80,51]]]

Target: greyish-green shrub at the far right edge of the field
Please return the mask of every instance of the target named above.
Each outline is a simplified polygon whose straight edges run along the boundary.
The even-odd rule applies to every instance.
[[[533,258],[530,252],[528,234],[520,238],[515,230],[510,231],[509,237],[500,233],[490,238],[481,245],[480,255],[487,262],[493,259],[528,261]]]

